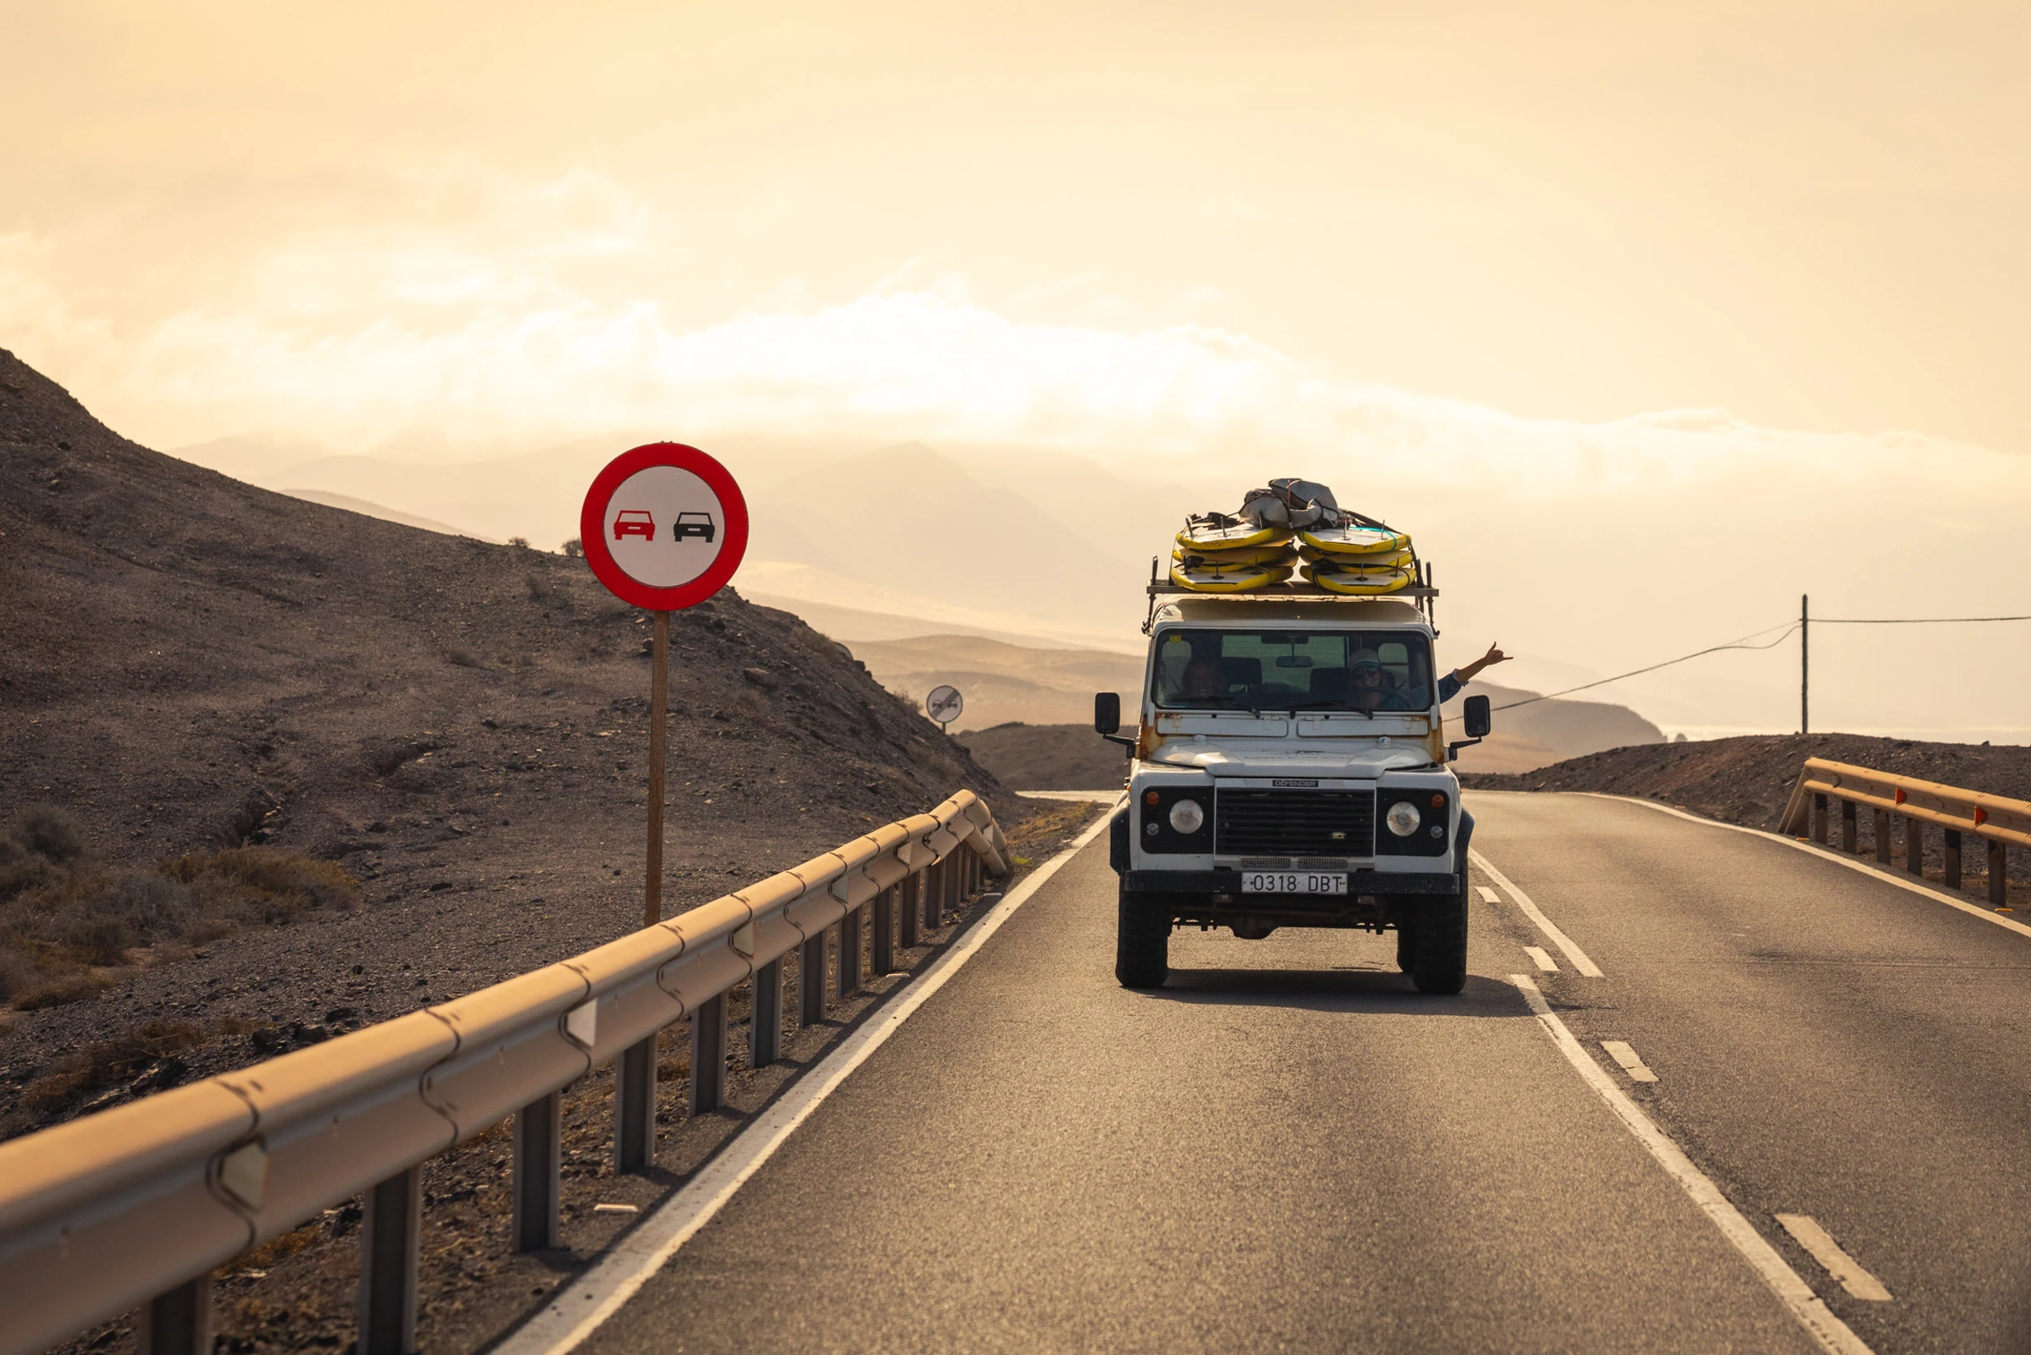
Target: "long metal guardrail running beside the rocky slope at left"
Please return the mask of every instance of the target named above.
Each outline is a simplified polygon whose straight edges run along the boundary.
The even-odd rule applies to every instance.
[[[737,894],[455,1002],[0,1144],[0,1351],[32,1355],[142,1304],[140,1349],[209,1355],[211,1272],[366,1197],[359,1355],[414,1349],[422,1162],[514,1119],[514,1239],[556,1245],[563,1089],[615,1069],[615,1168],[654,1156],[656,1034],[691,1018],[693,1111],[721,1103],[725,997],[754,979],[751,1062],[780,1056],[782,957],[825,1018],[918,922],[1005,876],[971,790]],[[869,904],[873,908],[869,908]]]

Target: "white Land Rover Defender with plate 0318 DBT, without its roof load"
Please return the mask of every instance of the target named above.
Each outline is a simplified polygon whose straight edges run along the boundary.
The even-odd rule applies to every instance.
[[[1111,823],[1121,874],[1115,977],[1158,987],[1170,928],[1397,932],[1426,993],[1466,983],[1466,847],[1475,821],[1446,764],[1430,587],[1397,597],[1204,595],[1152,585],[1141,727],[1121,697],[1093,725],[1131,756]]]

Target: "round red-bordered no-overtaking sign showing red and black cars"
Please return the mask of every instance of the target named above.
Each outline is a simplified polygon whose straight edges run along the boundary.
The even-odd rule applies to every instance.
[[[585,492],[579,540],[593,575],[648,611],[693,607],[747,553],[747,500],[697,447],[648,443],[607,463]]]

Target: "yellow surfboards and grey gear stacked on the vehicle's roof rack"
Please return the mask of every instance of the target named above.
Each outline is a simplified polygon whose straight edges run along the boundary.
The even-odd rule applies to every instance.
[[[1253,593],[1292,573],[1328,593],[1381,595],[1418,581],[1418,557],[1407,532],[1300,479],[1251,492],[1239,514],[1188,518],[1170,553],[1170,581],[1194,593]]]

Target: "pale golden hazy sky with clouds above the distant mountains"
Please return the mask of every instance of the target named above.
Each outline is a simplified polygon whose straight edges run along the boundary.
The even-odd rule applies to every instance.
[[[0,345],[152,445],[1407,400],[2031,451],[2025,6],[0,16]]]

